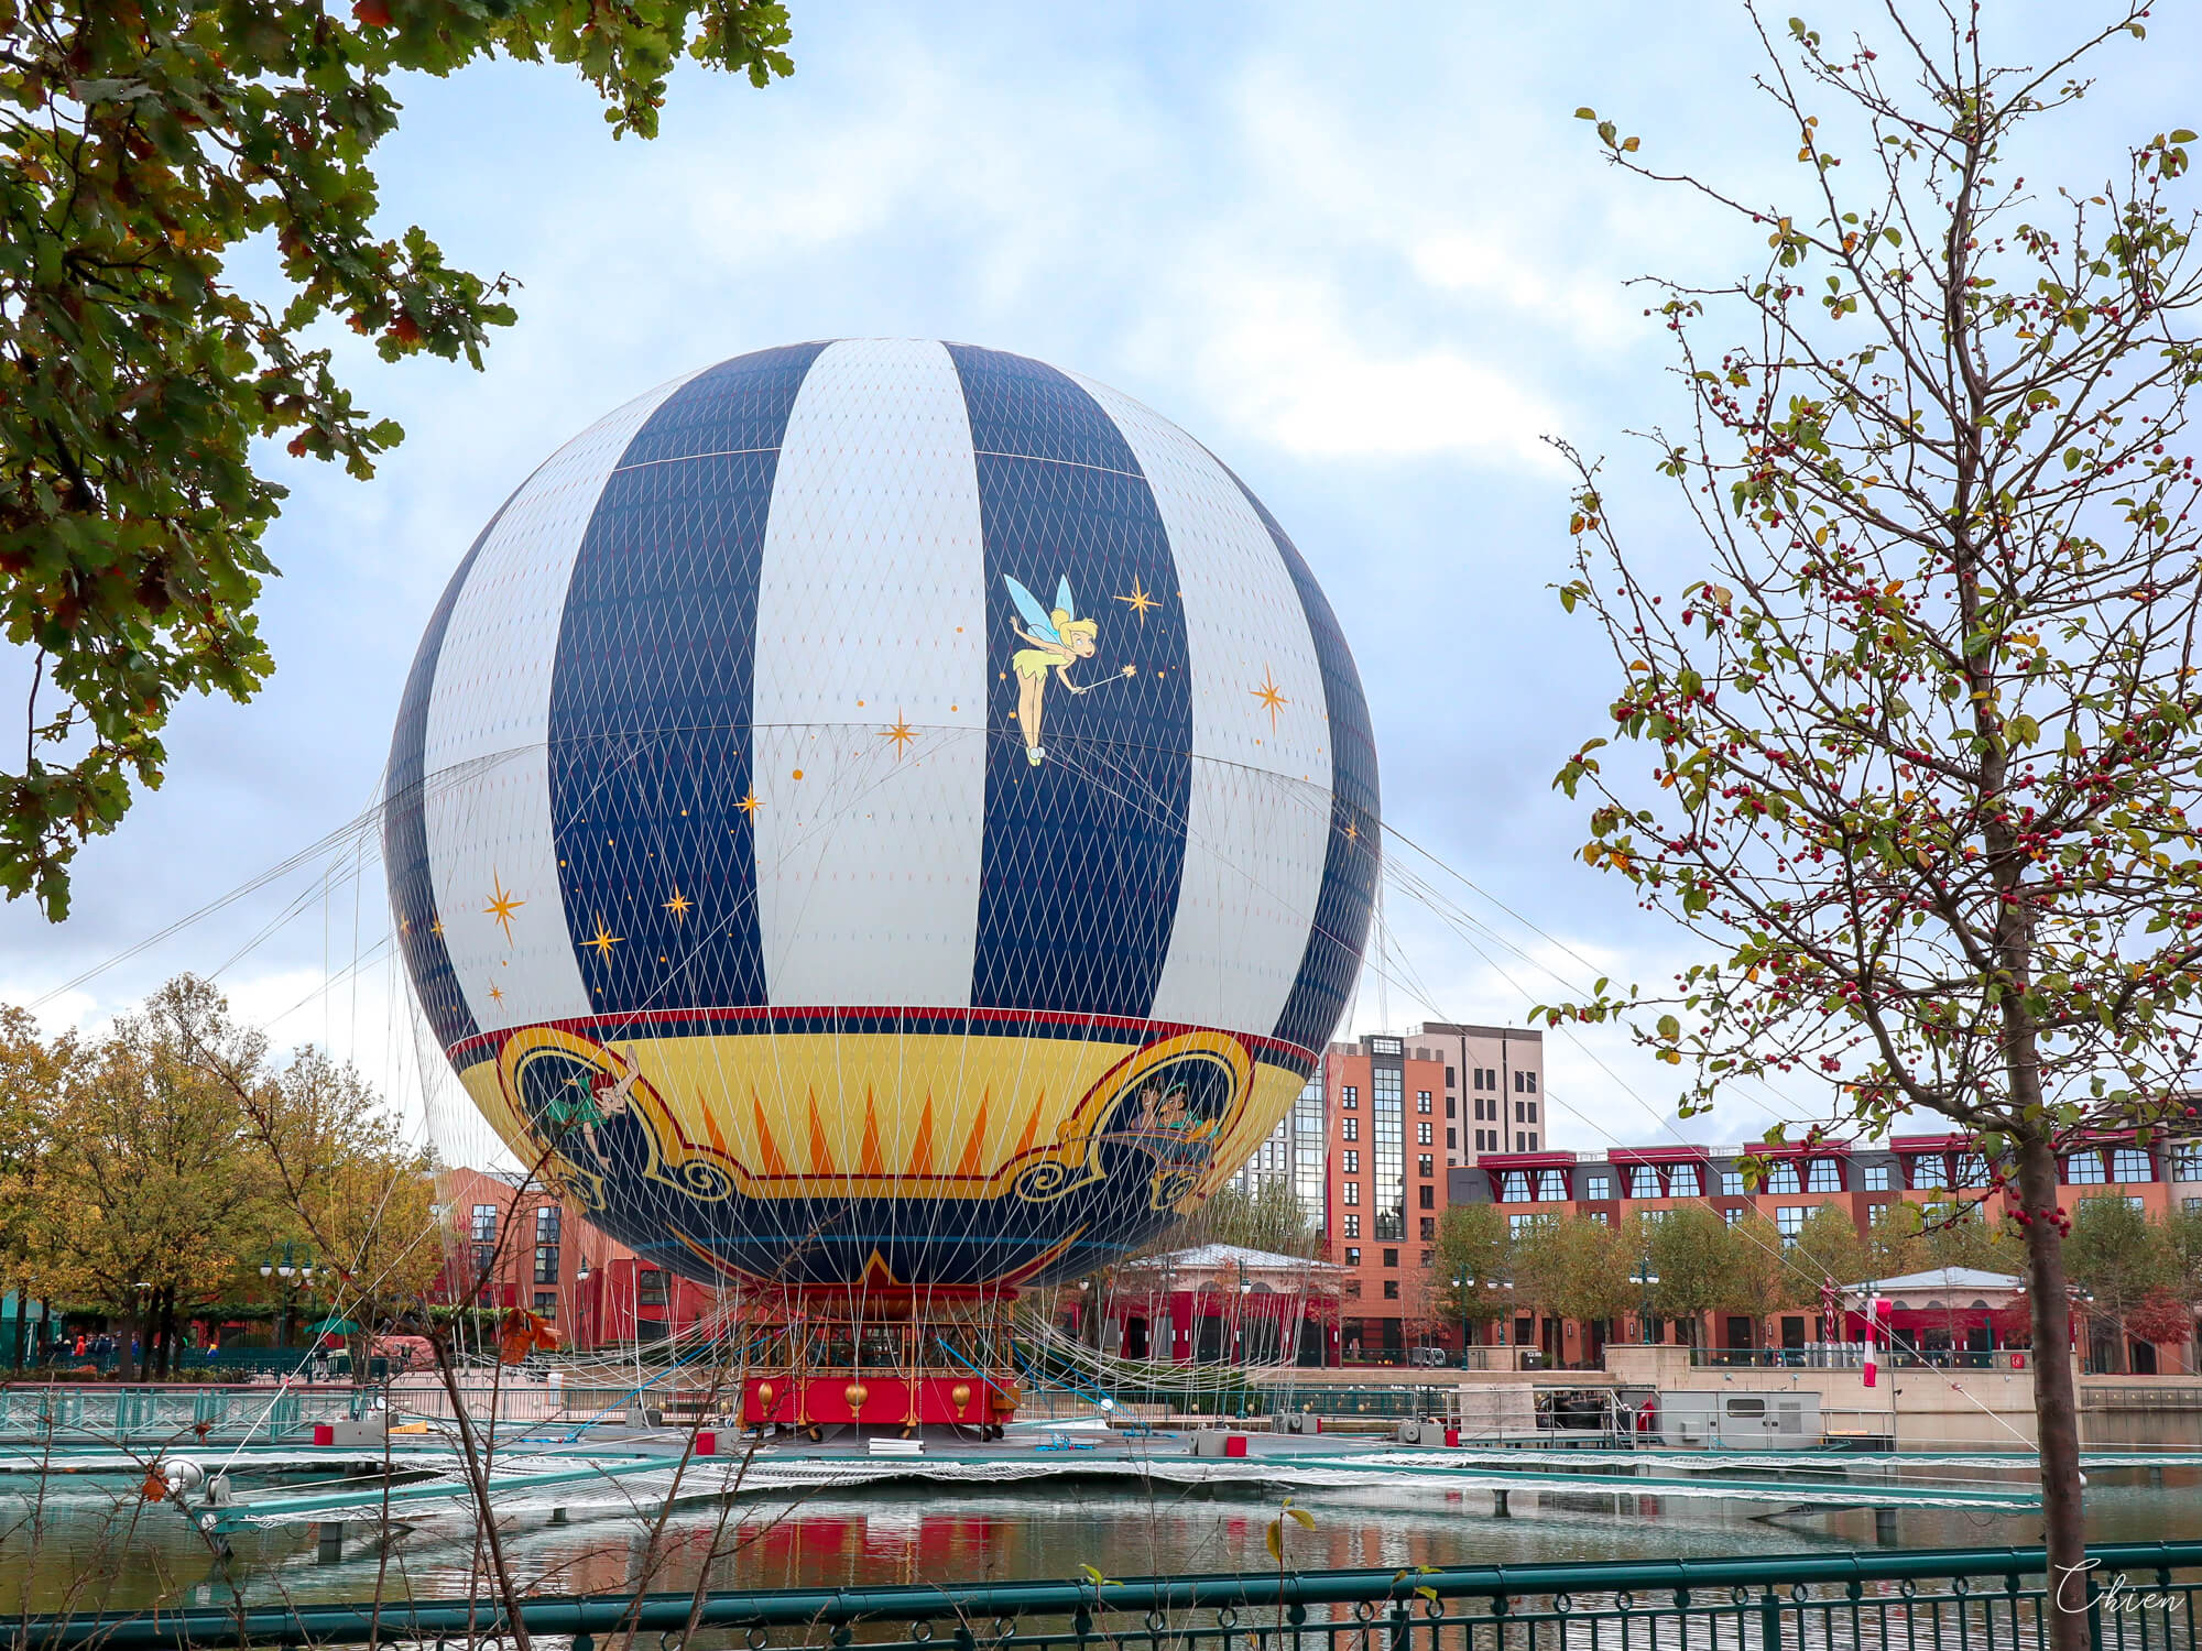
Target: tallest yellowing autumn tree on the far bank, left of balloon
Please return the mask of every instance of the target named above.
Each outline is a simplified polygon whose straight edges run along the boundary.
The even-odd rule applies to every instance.
[[[40,1118],[26,1261],[51,1294],[121,1319],[126,1380],[148,1308],[211,1301],[273,1231],[253,1140],[194,1048],[249,1065],[260,1041],[211,986],[183,977],[103,1041],[64,1041]]]

